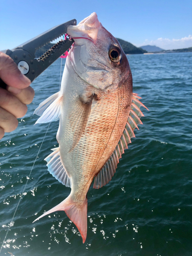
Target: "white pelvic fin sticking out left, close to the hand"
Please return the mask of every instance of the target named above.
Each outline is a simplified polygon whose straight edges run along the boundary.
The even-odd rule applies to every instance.
[[[38,108],[33,113],[40,116],[36,123],[48,123],[52,121],[57,121],[60,116],[62,97],[63,95],[57,92],[41,102]]]

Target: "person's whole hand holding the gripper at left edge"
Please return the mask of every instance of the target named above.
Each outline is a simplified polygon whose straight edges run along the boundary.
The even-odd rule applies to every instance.
[[[27,105],[34,98],[31,81],[17,68],[12,58],[0,52],[0,77],[7,84],[7,90],[0,88],[0,139],[5,132],[16,129],[17,118],[25,116]]]

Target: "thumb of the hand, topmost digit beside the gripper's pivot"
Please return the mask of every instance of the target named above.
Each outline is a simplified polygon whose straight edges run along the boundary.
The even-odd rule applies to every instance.
[[[0,52],[0,77],[8,85],[16,88],[26,88],[31,81],[17,68],[16,63],[7,54]]]

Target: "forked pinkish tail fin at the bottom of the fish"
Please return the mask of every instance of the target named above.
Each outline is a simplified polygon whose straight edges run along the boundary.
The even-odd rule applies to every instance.
[[[87,198],[84,200],[84,202],[81,205],[77,206],[77,204],[72,200],[71,196],[69,196],[65,200],[63,200],[60,204],[46,211],[45,214],[42,214],[33,222],[57,210],[64,210],[66,212],[69,219],[78,228],[82,237],[82,242],[84,244],[87,238],[87,211],[88,211]]]

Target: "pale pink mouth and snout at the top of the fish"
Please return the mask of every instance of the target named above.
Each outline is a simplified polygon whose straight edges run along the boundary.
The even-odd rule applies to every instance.
[[[88,39],[96,43],[99,27],[101,26],[97,14],[93,12],[89,17],[84,18],[77,26],[70,25],[68,34],[78,45],[82,44],[80,39]]]

